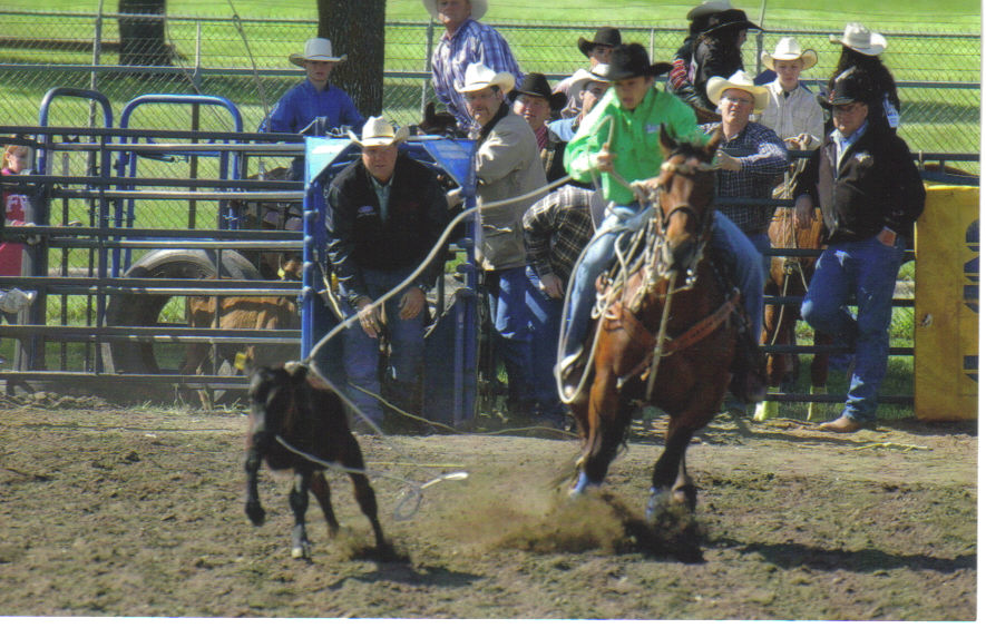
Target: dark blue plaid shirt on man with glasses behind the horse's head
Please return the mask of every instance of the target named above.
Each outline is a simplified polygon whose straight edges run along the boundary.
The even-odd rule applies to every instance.
[[[722,122],[702,125],[712,135]],[[763,125],[746,122],[746,127],[719,147],[739,158],[739,171],[716,170],[717,198],[771,198],[779,177],[788,167],[788,149],[775,133]],[[773,205],[722,205],[719,210],[736,224],[744,234],[767,233],[773,216]]]

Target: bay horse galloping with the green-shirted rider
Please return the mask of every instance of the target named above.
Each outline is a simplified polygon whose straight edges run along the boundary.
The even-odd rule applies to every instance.
[[[588,391],[572,403],[582,455],[570,494],[603,482],[629,430],[633,403],[671,415],[654,464],[647,519],[674,503],[694,510],[697,491],[685,467],[692,435],[717,412],[730,384],[742,306],[706,255],[712,235],[714,170],[722,141],[676,143],[662,127],[664,164],[643,262],[612,282],[587,374]],[[653,197],[652,197],[653,198]]]

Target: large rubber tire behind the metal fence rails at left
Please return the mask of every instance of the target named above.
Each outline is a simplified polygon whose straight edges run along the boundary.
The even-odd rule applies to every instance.
[[[153,251],[130,266],[125,277],[204,279],[216,275],[215,251],[163,248]],[[221,278],[261,279],[261,274],[243,255],[224,251]],[[153,327],[172,297],[156,294],[114,295],[106,307],[108,326]],[[150,341],[110,341],[102,344],[107,373],[159,373]]]

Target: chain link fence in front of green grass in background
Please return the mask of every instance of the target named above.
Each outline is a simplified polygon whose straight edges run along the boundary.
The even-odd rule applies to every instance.
[[[170,66],[120,66],[120,22],[135,16],[0,11],[0,108],[7,124],[38,124],[42,96],[52,87],[95,89],[105,94],[119,122],[126,102],[146,94],[205,94],[232,100],[243,118],[243,130],[257,128],[277,98],[303,79],[287,62],[315,24],[309,20],[223,19],[168,16],[164,55]],[[141,19],[148,19],[146,16]],[[162,18],[150,18],[162,19]],[[551,79],[570,75],[586,59],[576,47],[595,24],[495,26],[510,42],[521,69]],[[877,26],[878,24],[873,24]],[[624,41],[638,41],[655,59],[670,59],[684,37],[683,28],[621,26]],[[933,30],[931,28],[928,29]],[[442,33],[429,22],[388,22],[383,114],[399,124],[420,119],[431,92],[428,57]],[[806,73],[818,88],[836,66],[840,47],[829,42],[831,31],[751,31],[744,47],[748,70],[760,70],[760,51],[772,50],[784,35],[798,37],[803,48],[819,53],[819,63]],[[914,150],[977,153],[979,138],[979,35],[886,32],[890,42],[884,59],[898,81],[902,101],[900,135]],[[129,50],[140,47],[129,47]],[[148,40],[148,58],[162,53]],[[348,62],[359,62],[359,51]],[[159,58],[159,57],[158,57]],[[364,111],[363,114],[374,114]],[[84,100],[60,99],[48,115],[51,126],[101,125]],[[197,128],[236,130],[217,107],[147,106],[135,111],[130,128]],[[978,171],[978,165],[973,166]]]

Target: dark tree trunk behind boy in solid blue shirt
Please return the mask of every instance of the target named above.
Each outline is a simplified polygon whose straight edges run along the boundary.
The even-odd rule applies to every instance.
[[[383,22],[385,0],[318,0],[319,37],[335,56],[348,55],[330,81],[345,90],[360,114],[383,110]]]

